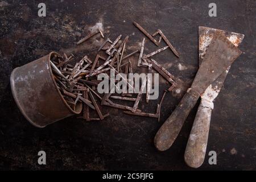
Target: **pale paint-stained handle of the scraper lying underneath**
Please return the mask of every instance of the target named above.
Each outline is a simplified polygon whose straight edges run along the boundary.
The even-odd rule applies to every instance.
[[[184,154],[190,167],[198,168],[204,163],[212,109],[213,102],[201,100]]]

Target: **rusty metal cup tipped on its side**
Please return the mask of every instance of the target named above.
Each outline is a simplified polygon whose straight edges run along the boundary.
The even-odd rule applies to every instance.
[[[50,60],[56,52],[11,72],[11,92],[24,117],[36,127],[45,127],[73,114],[79,114],[82,104],[73,110],[64,100],[54,80]]]

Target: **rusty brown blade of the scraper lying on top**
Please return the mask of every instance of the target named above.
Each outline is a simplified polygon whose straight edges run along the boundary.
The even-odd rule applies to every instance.
[[[221,73],[230,67],[239,55],[241,55],[240,49],[234,46],[222,32],[215,32],[191,89],[199,94],[203,93]]]

